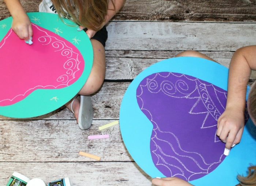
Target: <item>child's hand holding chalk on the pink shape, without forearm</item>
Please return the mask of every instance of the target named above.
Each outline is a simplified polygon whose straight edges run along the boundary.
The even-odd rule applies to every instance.
[[[12,30],[14,30],[20,39],[25,39],[25,41],[32,39],[33,30],[27,14],[20,14],[19,17],[13,19]]]

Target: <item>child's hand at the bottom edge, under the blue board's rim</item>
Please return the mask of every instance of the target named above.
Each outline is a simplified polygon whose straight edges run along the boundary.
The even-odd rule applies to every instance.
[[[193,186],[187,181],[177,178],[177,177],[169,177],[169,178],[153,178],[152,183],[156,186]]]

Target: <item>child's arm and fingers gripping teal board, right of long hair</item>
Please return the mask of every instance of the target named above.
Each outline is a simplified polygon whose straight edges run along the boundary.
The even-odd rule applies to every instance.
[[[107,15],[106,15],[106,19],[105,19],[105,22],[103,23],[102,27],[104,25],[106,25],[110,19],[113,18],[114,15],[116,15],[116,13],[120,10],[120,8],[123,6],[124,4],[124,1],[125,0],[113,0],[113,3],[111,0],[109,0],[109,3],[108,3],[108,12],[107,12]],[[84,27],[79,27],[80,30],[84,29]],[[94,35],[95,35],[96,31],[94,30],[90,30],[88,29],[86,31],[86,34],[88,35],[89,38],[92,38]]]

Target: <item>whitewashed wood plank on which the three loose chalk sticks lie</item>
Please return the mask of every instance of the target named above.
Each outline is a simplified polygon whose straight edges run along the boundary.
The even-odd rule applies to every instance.
[[[113,120],[94,120],[89,130],[80,130],[75,120],[0,121],[0,162],[97,161],[79,155],[84,151],[101,162],[133,161],[124,146],[119,125],[99,126]],[[89,135],[109,134],[107,139],[88,140]]]

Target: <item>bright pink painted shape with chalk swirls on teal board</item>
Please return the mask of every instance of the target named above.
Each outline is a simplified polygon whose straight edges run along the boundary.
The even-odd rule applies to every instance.
[[[36,24],[32,28],[32,45],[12,29],[0,42],[0,106],[19,102],[37,89],[70,86],[82,75],[83,56],[71,42]]]

